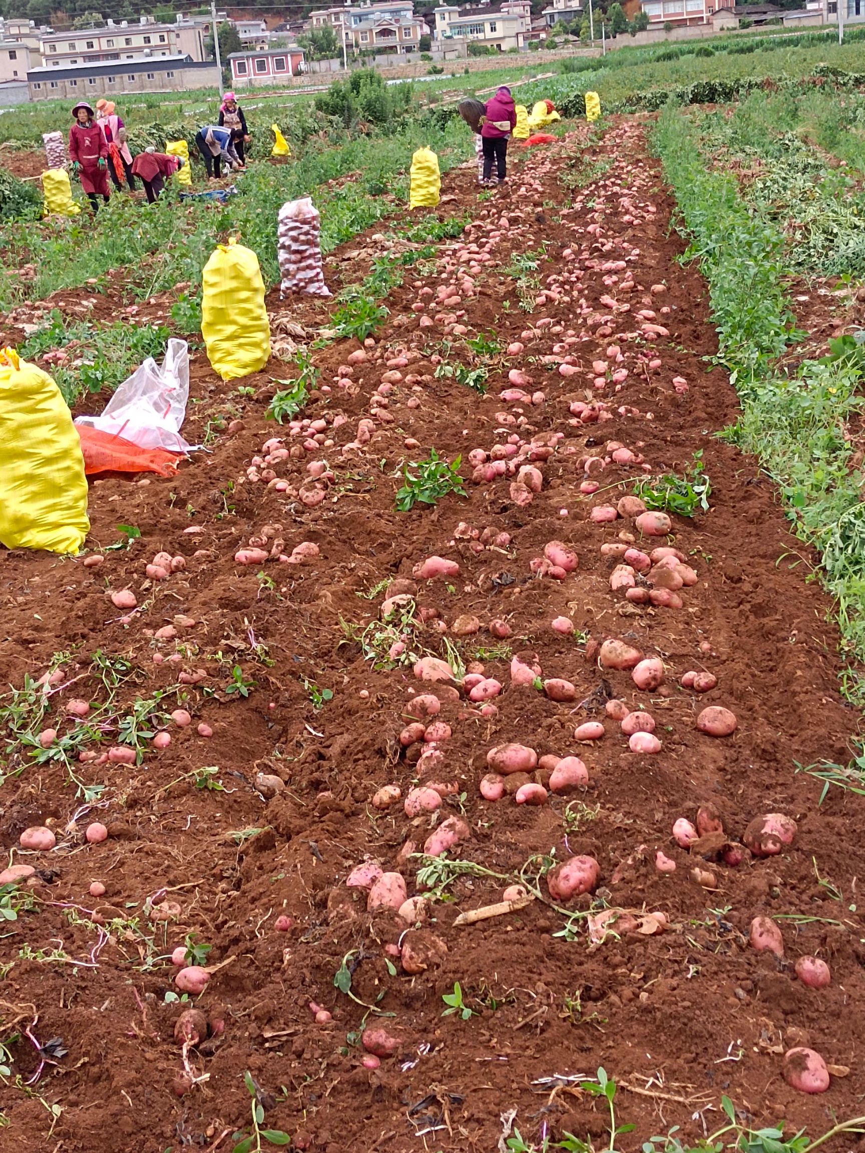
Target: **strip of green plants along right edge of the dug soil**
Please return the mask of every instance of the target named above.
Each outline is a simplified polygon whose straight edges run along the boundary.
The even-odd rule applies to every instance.
[[[742,402],[725,435],[760,460],[795,532],[819,550],[843,654],[865,661],[865,476],[853,467],[847,437],[848,421],[865,407],[857,357],[806,360],[790,374],[778,366],[797,337],[783,234],[743,202],[732,176],[707,168],[694,126],[679,110],[664,110],[654,146],[692,238],[689,255],[699,258],[709,285],[719,360]],[[844,688],[865,704],[865,685],[851,669]]]

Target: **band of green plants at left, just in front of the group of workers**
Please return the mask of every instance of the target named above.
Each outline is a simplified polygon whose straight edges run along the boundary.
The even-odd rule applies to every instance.
[[[179,203],[175,194],[149,206],[113,196],[96,220],[83,212],[42,225],[7,221],[6,267],[32,264],[37,271],[29,284],[8,272],[0,274],[0,309],[89,279],[105,284],[119,271],[138,296],[183,281],[196,287],[213,246],[232,233],[256,251],[265,281],[274,284],[277,212],[286,201],[313,196],[322,212],[322,248],[328,253],[393,211],[393,199],[385,194],[398,203],[407,199],[412,153],[422,144],[438,153],[442,171],[466,159],[472,148],[461,122],[436,128],[408,121],[396,133],[362,136],[339,148],[310,141],[299,159],[281,166],[254,165],[238,179],[238,194],[224,206],[210,201]]]

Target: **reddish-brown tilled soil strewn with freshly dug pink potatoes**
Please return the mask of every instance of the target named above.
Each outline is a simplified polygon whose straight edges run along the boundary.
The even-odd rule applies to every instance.
[[[795,773],[796,762],[843,761],[859,723],[838,693],[829,605],[807,579],[810,558],[788,534],[772,487],[752,460],[713,436],[735,421],[736,397],[704,359],[715,351],[705,285],[693,266],[676,263],[684,244],[669,234],[671,204],[639,122],[619,122],[585,156],[582,141],[574,133],[550,152],[517,160],[507,191],[476,203],[466,239],[477,250],[459,264],[473,285],[452,276],[453,242],[445,241],[435,269],[407,269],[385,302],[390,314],[376,344],[351,376],[340,366],[359,349],[355,341],[315,353],[319,387],[301,415],[326,421],[318,442],[302,449],[315,430],[292,437],[288,425],[264,419],[274,379],[293,375],[288,356],[241,382],[255,389],[250,397],[236,382],[223,384],[197,354],[187,438],[203,438],[217,419],[241,417],[242,424],[231,436],[218,434],[211,452],[175,477],[105,478],[91,488],[91,551],[113,544],[121,523],[136,526],[142,540],[105,552],[98,568],[85,568],[83,557],[0,555],[3,681],[20,687],[25,676],[46,671],[53,654],[66,654],[54,662],[66,679],[44,724],[67,733],[63,703],[84,698],[95,710],[105,706],[97,710],[104,741],[116,743],[118,708],[106,706],[112,675],[95,676],[96,653],[128,662],[114,673],[121,713],[163,693],[158,714],[181,704],[194,718],[178,728],[158,716],[172,743],[156,752],[142,738],[136,766],[73,763],[80,782],[106,786],[89,813],[81,812],[61,761],[35,763],[27,745],[8,748],[2,844],[9,861],[39,872],[35,906],[6,926],[0,952],[7,1033],[13,1023],[30,1033],[10,1045],[13,1078],[0,1088],[9,1124],[0,1130],[0,1150],[231,1148],[249,1123],[245,1071],[258,1086],[265,1126],[291,1133],[296,1148],[328,1153],[492,1151],[503,1147],[501,1117],[514,1109],[528,1145],[571,1131],[601,1147],[609,1144],[606,1111],[577,1087],[580,1075],[595,1076],[600,1067],[618,1085],[617,1122],[635,1125],[616,1141],[624,1150],[671,1125],[686,1139],[721,1128],[722,1094],[745,1123],[783,1120],[814,1136],[833,1118],[862,1111],[860,801],[830,790],[818,807],[820,784]],[[609,169],[581,184],[580,173],[596,160],[609,161]],[[475,201],[473,181],[473,168],[445,179],[444,191],[457,199],[439,209],[442,217]],[[589,234],[589,223],[601,233]],[[382,243],[362,238],[345,251]],[[639,255],[629,261],[634,247]],[[542,248],[537,279],[522,284],[524,309],[514,256]],[[328,262],[329,280],[345,251]],[[600,267],[618,261],[633,274],[631,292],[622,288],[624,270]],[[576,270],[582,276],[571,279]],[[549,285],[550,277],[558,280]],[[453,291],[461,293],[458,303],[412,309],[429,299],[426,287],[451,281],[462,286]],[[667,292],[649,294],[656,284]],[[547,289],[552,296],[536,303]],[[612,306],[601,301],[608,294]],[[270,304],[310,329],[325,326],[332,307]],[[634,317],[640,309],[655,311],[669,336],[649,339]],[[544,319],[552,324],[537,324]],[[565,345],[569,331],[574,342]],[[435,375],[441,363],[475,366],[462,337],[480,333],[495,334],[502,349],[488,357],[486,397]],[[517,340],[524,352],[505,356]],[[596,391],[592,362],[609,360],[611,344],[622,349],[627,377],[619,391],[611,382]],[[661,366],[650,369],[655,357]],[[398,359],[406,363],[388,368],[386,360]],[[561,375],[561,362],[576,371]],[[511,368],[533,377],[527,392],[536,402],[499,399]],[[385,372],[399,375],[389,378],[386,404],[378,392]],[[596,423],[584,423],[572,414],[577,401],[609,407],[593,409],[602,416]],[[362,419],[371,421],[370,437],[358,444]],[[550,434],[561,436],[549,442]],[[299,450],[273,465],[286,492],[249,478],[250,468],[260,476],[265,467],[253,458],[273,436]],[[469,480],[468,452],[489,452],[509,436],[518,445],[536,438],[543,485],[531,503],[512,488],[514,476]],[[421,447],[406,447],[407,439]],[[609,464],[592,473],[597,496],[579,487],[581,462],[609,455],[614,439],[653,472],[680,472],[695,451],[704,453],[712,511],[674,517],[670,537],[648,542],[675,544],[695,568],[698,582],[682,589],[682,608],[631,604],[610,590],[615,560],[601,556],[601,544],[639,534],[632,521],[596,523],[588,513],[615,505],[644,470]],[[399,513],[400,464],[430,446],[447,459],[462,455],[467,496]],[[304,478],[313,459],[328,461],[329,484]],[[306,505],[303,496],[319,488],[324,497]],[[235,564],[235,551],[268,525],[280,526],[266,534],[269,549],[274,536],[284,542],[277,555],[306,541],[318,557],[301,566]],[[185,532],[191,526],[197,530]],[[471,528],[487,527],[510,534],[510,542],[481,548]],[[532,572],[550,540],[579,555],[578,570],[564,580]],[[158,550],[185,556],[186,568],[151,585],[144,565]],[[446,656],[444,641],[451,641],[466,665],[482,665],[504,686],[497,715],[481,715],[464,689],[421,686],[411,662],[388,661],[392,638],[378,647],[384,666],[364,657],[358,635],[379,618],[386,582],[413,581],[414,566],[431,555],[457,562],[459,573],[414,581],[427,623],[406,630],[407,649]],[[126,621],[107,596],[121,588],[138,600]],[[466,623],[458,620],[466,617],[477,618],[477,633],[462,632]],[[554,632],[557,617],[570,618],[576,632]],[[488,632],[492,619],[510,626],[506,645]],[[178,635],[156,639],[167,625]],[[597,642],[609,636],[663,658],[659,692],[639,692],[629,673],[599,668]],[[557,704],[512,685],[511,653],[534,657],[544,677],[566,678],[576,701]],[[234,665],[248,698],[226,692]],[[197,685],[179,683],[179,671],[197,669],[206,675]],[[680,688],[690,669],[712,671],[717,687],[702,696]],[[321,689],[332,699],[317,707]],[[424,689],[441,695],[438,719],[452,730],[426,774],[415,767],[419,747],[406,753],[399,743],[412,695]],[[609,695],[653,714],[660,753],[629,751],[618,724],[606,717]],[[736,713],[732,737],[697,731],[695,716],[707,704]],[[599,718],[604,738],[576,745],[574,726]],[[212,728],[210,738],[197,734],[198,722]],[[539,754],[580,755],[589,773],[585,794],[550,794],[539,807],[517,806],[510,796],[482,799],[486,754],[506,741]],[[221,791],[196,787],[193,774],[204,767],[218,769],[211,779]],[[255,790],[261,771],[284,783],[270,800]],[[412,820],[401,801],[389,809],[371,805],[385,784],[399,785],[405,797],[419,779],[442,778],[457,791],[437,814]],[[734,839],[765,812],[792,816],[797,837],[783,853],[737,868],[695,861],[670,830],[709,801]],[[418,860],[400,851],[407,841],[420,851],[450,816],[461,816],[469,830],[453,856],[494,875],[458,876],[445,899],[431,903],[426,935],[408,937],[415,954],[428,954],[427,967],[409,974],[396,948],[406,944],[409,924],[393,911],[368,913],[366,891],[345,881],[370,858],[399,871],[414,894]],[[110,838],[86,845],[81,830],[95,819],[107,824]],[[43,823],[55,829],[57,847],[20,851],[22,830]],[[656,871],[657,850],[676,861],[675,873]],[[541,873],[554,853],[597,860],[594,898],[569,907],[618,910],[612,933],[589,939],[585,918],[569,919],[549,900]],[[713,874],[715,889],[692,880],[695,864]],[[520,877],[536,884],[537,899],[454,926],[458,914],[499,900],[503,887]],[[101,898],[89,895],[93,881],[105,886]],[[163,911],[170,920],[158,919]],[[635,932],[646,912],[664,913],[667,932]],[[784,959],[749,947],[758,914],[777,919]],[[287,932],[274,928],[279,915],[291,918]],[[189,933],[212,945],[205,964],[216,971],[200,1008],[223,1023],[188,1054],[201,1078],[191,1088],[172,1035],[181,1007],[166,1003],[176,972],[170,955]],[[830,963],[829,988],[810,992],[797,981],[793,963],[802,955]],[[351,973],[351,996],[334,984],[340,970]],[[454,982],[472,1010],[467,1020],[443,1016],[442,996]],[[316,1022],[310,1003],[332,1019]],[[376,1069],[362,1064],[364,1025],[398,1041]],[[39,1069],[35,1042],[55,1037],[67,1053],[44,1053],[48,1063]],[[812,1046],[849,1075],[834,1076],[823,1095],[795,1092],[782,1077],[782,1055],[792,1045]],[[15,1085],[16,1075],[29,1086]],[[53,1103],[61,1111],[52,1125],[46,1107]]]

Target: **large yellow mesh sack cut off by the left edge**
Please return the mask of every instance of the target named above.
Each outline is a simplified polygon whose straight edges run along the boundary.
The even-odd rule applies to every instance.
[[[0,543],[77,552],[90,529],[81,439],[48,374],[12,348],[0,351]]]

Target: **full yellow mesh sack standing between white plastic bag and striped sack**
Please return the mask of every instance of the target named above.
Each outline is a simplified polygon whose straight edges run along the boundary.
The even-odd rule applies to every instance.
[[[208,359],[224,380],[263,369],[270,325],[258,257],[235,240],[218,244],[202,272],[201,331]]]

